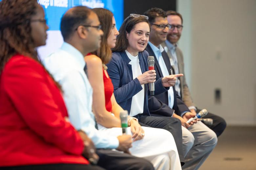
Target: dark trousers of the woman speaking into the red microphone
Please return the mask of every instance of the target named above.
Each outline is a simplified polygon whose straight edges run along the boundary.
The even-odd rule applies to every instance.
[[[181,121],[174,117],[162,117],[158,114],[151,114],[151,116],[145,115],[136,115],[139,119],[140,125],[145,124],[149,127],[161,128],[171,132],[180,157],[181,165],[184,164],[184,153],[182,148],[182,130],[181,130]]]

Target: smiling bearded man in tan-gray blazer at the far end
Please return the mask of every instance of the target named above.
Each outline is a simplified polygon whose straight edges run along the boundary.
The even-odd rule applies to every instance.
[[[170,58],[171,66],[173,67],[175,74],[184,75],[177,79],[175,84],[176,91],[182,98],[183,102],[187,105],[189,110],[192,113],[196,113],[199,112],[200,109],[197,109],[192,101],[192,97],[190,95],[184,74],[183,54],[181,49],[177,46],[177,42],[181,37],[183,19],[181,14],[176,11],[166,11],[166,15],[168,24],[171,25],[171,29],[167,34],[167,40],[161,45]],[[213,119],[213,124],[207,126],[211,128],[217,136],[220,136],[226,127],[225,120],[222,117],[212,113],[208,113],[204,118]]]

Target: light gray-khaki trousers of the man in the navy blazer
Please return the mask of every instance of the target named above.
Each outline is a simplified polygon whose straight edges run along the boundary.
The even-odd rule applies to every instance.
[[[217,144],[217,136],[202,122],[188,129],[182,126],[182,144],[185,155],[183,170],[198,169]]]

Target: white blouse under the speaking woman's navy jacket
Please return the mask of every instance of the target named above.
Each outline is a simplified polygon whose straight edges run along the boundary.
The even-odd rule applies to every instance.
[[[132,65],[132,72],[133,72],[133,79],[141,75],[141,69],[139,65],[139,54],[137,56],[131,55],[127,50],[125,50],[128,58],[131,60],[129,64]],[[137,114],[143,113],[144,107],[144,93],[145,93],[145,86],[144,84],[141,85],[142,90],[139,93],[135,94],[132,98],[132,106],[130,111],[130,116],[135,116]]]

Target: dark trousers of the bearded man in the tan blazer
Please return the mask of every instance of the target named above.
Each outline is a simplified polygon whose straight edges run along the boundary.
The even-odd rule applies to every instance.
[[[198,113],[200,111],[201,111],[201,109],[197,109]],[[217,116],[213,113],[208,113],[203,118],[213,119],[213,124],[212,125],[206,125],[206,126],[209,127],[210,129],[212,129],[216,133],[217,137],[222,134],[222,132],[225,130],[225,128],[227,126],[226,121],[222,117]]]

